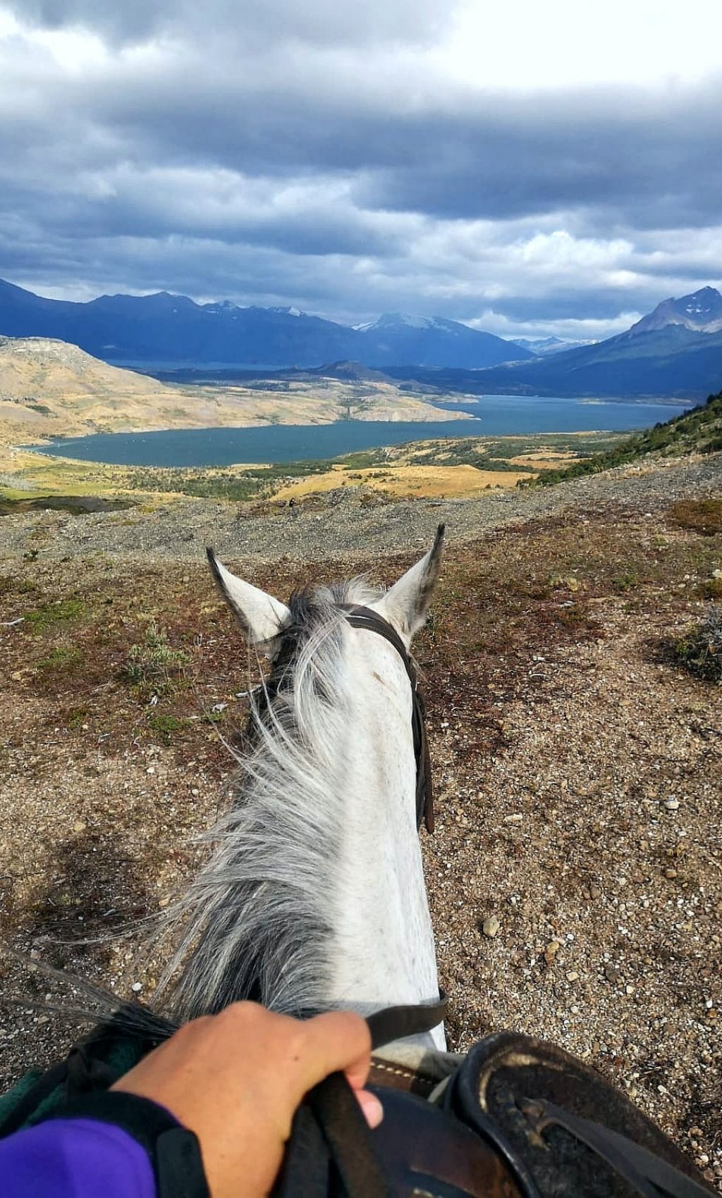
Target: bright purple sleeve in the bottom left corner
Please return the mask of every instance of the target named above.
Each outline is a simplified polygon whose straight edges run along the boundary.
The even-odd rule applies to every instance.
[[[0,1140],[2,1198],[155,1198],[152,1166],[126,1131],[54,1119]]]

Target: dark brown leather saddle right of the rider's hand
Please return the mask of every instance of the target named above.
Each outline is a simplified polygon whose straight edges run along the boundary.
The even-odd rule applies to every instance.
[[[482,1040],[431,1101],[397,1088],[371,1089],[384,1106],[375,1131],[341,1075],[311,1091],[296,1113],[273,1198],[712,1194],[694,1164],[621,1091],[582,1060],[530,1036]]]

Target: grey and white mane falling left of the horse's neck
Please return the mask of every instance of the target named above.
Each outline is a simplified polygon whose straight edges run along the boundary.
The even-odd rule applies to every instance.
[[[168,913],[180,939],[158,993],[170,990],[180,1021],[240,999],[289,1015],[326,1005],[343,830],[335,780],[350,709],[338,605],[379,594],[354,579],[290,599],[270,679],[252,704],[231,805],[203,837],[213,845],[210,859]]]

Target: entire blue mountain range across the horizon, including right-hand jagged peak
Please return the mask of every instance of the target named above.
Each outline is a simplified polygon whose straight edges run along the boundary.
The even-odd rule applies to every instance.
[[[443,317],[386,313],[353,328],[297,308],[198,304],[166,291],[47,300],[0,280],[0,335],[48,337],[149,373],[269,373],[354,363],[474,394],[703,399],[722,386],[722,295],[662,301],[603,341],[505,341]],[[192,373],[192,370],[189,371]]]

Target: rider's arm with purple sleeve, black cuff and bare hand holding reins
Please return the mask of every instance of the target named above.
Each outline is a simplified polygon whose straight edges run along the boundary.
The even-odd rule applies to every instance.
[[[145,1149],[113,1121],[124,1102],[145,1123],[157,1117],[164,1127],[180,1124],[195,1133],[211,1198],[261,1198],[273,1185],[296,1107],[323,1077],[344,1071],[368,1121],[380,1121],[378,1100],[362,1089],[369,1054],[368,1027],[357,1015],[300,1022],[234,1004],[186,1024],[108,1095],[85,1099],[80,1117],[0,1142],[2,1198],[155,1198]]]

